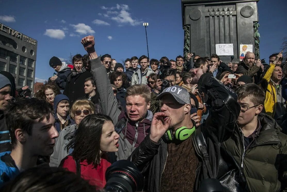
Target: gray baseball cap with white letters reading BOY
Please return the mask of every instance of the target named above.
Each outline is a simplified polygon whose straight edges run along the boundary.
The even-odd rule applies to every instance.
[[[188,91],[178,85],[165,88],[156,99],[161,99],[164,95],[172,95],[180,104],[190,104],[190,97]]]

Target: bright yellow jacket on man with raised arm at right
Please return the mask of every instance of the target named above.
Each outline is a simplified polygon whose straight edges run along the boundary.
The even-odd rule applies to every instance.
[[[274,117],[275,115],[275,109],[276,109],[276,89],[275,84],[270,80],[272,73],[275,69],[275,64],[270,64],[269,69],[265,73],[263,77],[263,82],[261,83],[261,87],[265,90],[265,101],[264,101],[264,107],[265,112],[267,115],[270,115],[271,117]]]

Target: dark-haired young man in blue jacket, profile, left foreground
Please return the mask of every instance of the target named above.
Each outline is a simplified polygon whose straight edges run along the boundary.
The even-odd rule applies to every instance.
[[[37,165],[38,156],[54,151],[58,132],[52,106],[36,98],[11,103],[5,113],[12,151],[0,153],[0,184]]]

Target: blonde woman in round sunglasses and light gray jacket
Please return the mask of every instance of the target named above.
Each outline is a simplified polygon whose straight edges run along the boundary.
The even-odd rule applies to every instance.
[[[95,105],[92,101],[89,101],[88,99],[81,99],[75,101],[75,103],[71,107],[70,114],[70,117],[75,120],[75,124],[67,126],[59,132],[59,137],[56,138],[54,152],[50,157],[51,167],[58,167],[61,160],[73,151],[73,149],[67,151],[66,146],[73,139],[75,132],[84,117],[89,114],[94,114],[94,112]]]

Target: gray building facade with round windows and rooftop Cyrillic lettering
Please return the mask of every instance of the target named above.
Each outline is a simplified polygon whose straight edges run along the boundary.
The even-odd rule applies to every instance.
[[[38,42],[0,23],[0,71],[10,72],[16,88],[33,91]],[[33,93],[33,92],[32,92]]]

